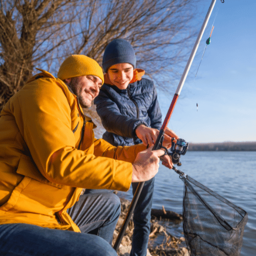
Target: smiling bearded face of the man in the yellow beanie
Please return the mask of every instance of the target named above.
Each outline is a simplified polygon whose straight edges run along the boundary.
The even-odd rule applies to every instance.
[[[77,76],[70,78],[68,85],[79,99],[82,108],[90,108],[92,101],[99,94],[102,80],[94,75]]]

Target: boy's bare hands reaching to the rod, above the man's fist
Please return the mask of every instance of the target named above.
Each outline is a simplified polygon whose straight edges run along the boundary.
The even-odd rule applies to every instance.
[[[141,124],[136,128],[135,133],[137,137],[142,140],[142,143],[144,145],[152,146],[157,140],[159,131],[157,129],[150,128],[145,126],[144,124]],[[163,146],[166,148],[170,148],[172,146],[172,138],[178,139],[179,137],[175,134],[174,131],[166,127],[164,131]]]

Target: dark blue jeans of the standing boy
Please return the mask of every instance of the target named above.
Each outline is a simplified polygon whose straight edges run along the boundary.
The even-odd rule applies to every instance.
[[[150,236],[154,182],[155,178],[145,181],[140,197],[134,209],[134,231],[130,256],[146,255],[148,239]],[[135,193],[137,186],[138,183],[132,183],[133,194]],[[107,192],[108,190],[86,189],[85,194],[99,193],[100,191]]]

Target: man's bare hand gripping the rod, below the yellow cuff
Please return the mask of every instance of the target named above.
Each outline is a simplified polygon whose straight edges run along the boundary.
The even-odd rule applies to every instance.
[[[132,182],[150,180],[158,173],[160,156],[164,155],[164,151],[152,149],[153,146],[138,153],[133,163]]]

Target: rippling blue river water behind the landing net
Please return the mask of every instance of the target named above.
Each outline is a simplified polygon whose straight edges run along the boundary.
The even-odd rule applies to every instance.
[[[191,152],[181,156],[182,172],[241,207],[248,213],[241,256],[256,255],[256,152]],[[174,170],[160,166],[155,178],[153,208],[182,214],[183,182]],[[125,193],[132,200],[132,193]],[[167,229],[183,236],[182,223]]]

